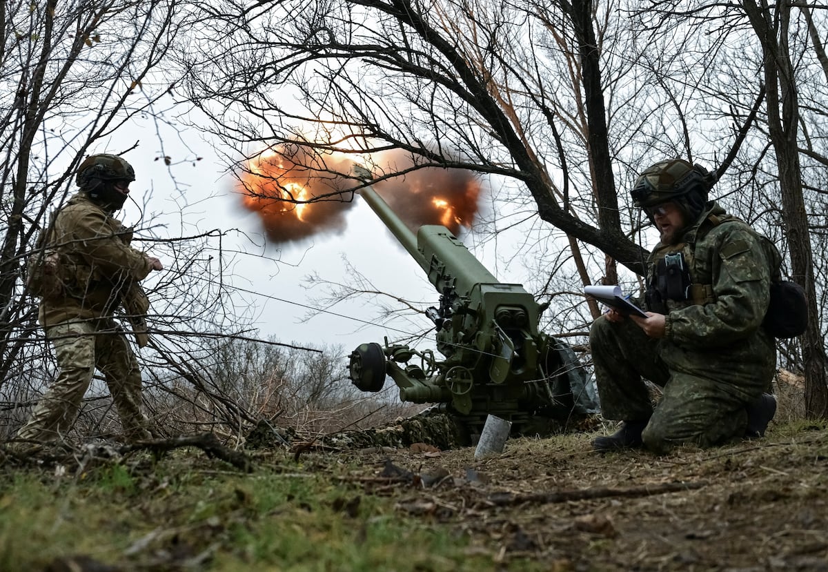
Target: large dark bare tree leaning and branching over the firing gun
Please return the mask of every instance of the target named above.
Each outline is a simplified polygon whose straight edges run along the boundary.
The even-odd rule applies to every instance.
[[[541,219],[640,267],[641,249],[620,230],[588,2],[556,13],[511,2],[226,4],[200,45],[208,57],[190,50],[182,65],[192,99],[238,153],[258,152],[252,142],[300,145],[316,151],[306,167],[325,171],[325,152],[395,148],[415,169],[502,175],[531,193]],[[556,62],[534,43],[545,30],[578,54],[568,87],[577,98],[557,94]],[[225,73],[210,63],[217,57]],[[566,111],[582,100],[578,113]],[[572,204],[594,197],[597,225]]]

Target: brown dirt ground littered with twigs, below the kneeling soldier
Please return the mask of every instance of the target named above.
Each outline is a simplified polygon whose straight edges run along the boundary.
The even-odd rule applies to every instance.
[[[612,430],[608,427],[606,430]],[[349,476],[455,526],[503,570],[828,570],[828,429],[772,425],[716,449],[595,454],[604,430],[474,448],[371,448]]]

